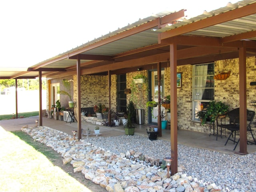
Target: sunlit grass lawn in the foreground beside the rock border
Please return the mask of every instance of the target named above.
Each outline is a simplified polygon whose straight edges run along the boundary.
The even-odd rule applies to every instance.
[[[57,160],[61,164],[59,154],[22,131],[6,132],[0,127],[0,152],[3,192],[91,192],[53,164]]]

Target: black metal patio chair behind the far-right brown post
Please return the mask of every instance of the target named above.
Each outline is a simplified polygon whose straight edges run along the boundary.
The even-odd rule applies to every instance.
[[[229,111],[226,116],[228,116],[229,120],[225,122],[228,122],[227,124],[222,124],[222,121],[219,121],[218,120],[218,117],[217,117],[217,120],[216,120],[216,123],[217,123],[217,129],[218,127],[219,128],[225,128],[227,130],[230,130],[231,133],[230,135],[228,136],[228,139],[225,143],[225,145],[228,143],[228,140],[231,140],[234,142],[234,144],[236,143],[236,146],[238,145],[239,141],[240,141],[240,138],[236,141],[236,132],[240,130],[240,122],[239,122],[239,108],[236,108],[236,109],[233,109],[231,111]],[[252,134],[252,128],[251,128],[251,123],[252,123],[252,120],[255,116],[255,112],[254,111],[249,111],[247,110],[247,131],[249,131],[251,134]],[[219,124],[219,122],[221,122]],[[234,133],[234,139],[233,139],[233,133]],[[232,136],[232,138],[230,138]],[[255,141],[255,138],[252,134],[252,138],[253,138],[253,142],[250,142],[247,140],[247,143],[250,142],[252,144],[256,144],[256,141]],[[233,150],[236,149],[236,146],[234,147]]]

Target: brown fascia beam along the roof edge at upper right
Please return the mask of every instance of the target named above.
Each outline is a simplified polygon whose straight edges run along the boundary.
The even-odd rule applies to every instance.
[[[180,26],[178,28],[174,28],[172,30],[168,30],[166,32],[162,32],[158,34],[158,37],[159,37],[159,40],[163,40],[166,38],[186,34],[188,32],[192,32],[195,30],[209,27],[209,26],[214,26],[216,24],[224,23],[230,20],[252,15],[255,13],[256,13],[256,3],[252,3],[249,5],[243,6],[241,8],[230,10],[228,12],[224,12],[216,16],[211,16],[190,24],[186,24],[184,26]]]

